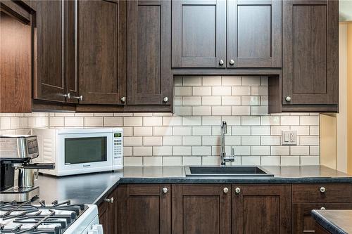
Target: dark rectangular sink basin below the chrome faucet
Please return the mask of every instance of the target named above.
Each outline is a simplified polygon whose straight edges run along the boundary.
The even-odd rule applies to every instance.
[[[261,167],[184,167],[186,176],[273,177]]]

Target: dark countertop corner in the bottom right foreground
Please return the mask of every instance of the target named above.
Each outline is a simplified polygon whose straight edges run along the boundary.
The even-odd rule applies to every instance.
[[[312,211],[312,216],[323,228],[333,234],[352,233],[352,210],[329,209]]]

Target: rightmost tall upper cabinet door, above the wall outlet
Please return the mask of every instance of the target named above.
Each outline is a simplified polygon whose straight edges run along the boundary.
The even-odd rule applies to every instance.
[[[339,1],[283,1],[283,104],[338,104]]]

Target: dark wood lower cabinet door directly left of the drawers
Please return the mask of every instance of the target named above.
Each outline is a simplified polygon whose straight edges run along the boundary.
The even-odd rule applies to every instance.
[[[232,185],[232,233],[291,233],[291,186]]]

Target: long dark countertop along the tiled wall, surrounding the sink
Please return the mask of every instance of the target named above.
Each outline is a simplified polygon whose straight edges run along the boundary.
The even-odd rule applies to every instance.
[[[99,204],[121,183],[352,183],[352,176],[324,166],[263,167],[274,177],[186,177],[184,167],[125,167],[77,176],[40,175],[40,200]]]

